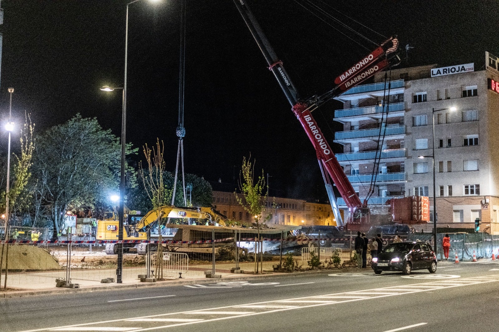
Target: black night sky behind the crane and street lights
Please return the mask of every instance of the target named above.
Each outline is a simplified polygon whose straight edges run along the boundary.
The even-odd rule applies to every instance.
[[[7,88],[13,87],[14,117],[31,113],[38,133],[81,113],[119,136],[121,90],[105,93],[99,87],[123,84],[127,2],[2,0],[2,119],[8,116]],[[300,5],[307,2],[378,43],[385,38],[335,9],[384,36],[397,34],[402,48],[414,47],[404,66],[475,62],[480,70],[485,51],[499,55],[498,1],[248,2],[302,97],[332,88],[339,73],[375,48],[338,24],[331,23],[341,33],[319,20]],[[129,8],[127,141],[141,148],[163,140],[173,171],[180,2],[141,0]],[[233,1],[187,0],[186,41],[186,172],[233,182],[243,156],[251,153],[256,169],[271,176],[271,195],[325,199],[315,152]],[[340,108],[330,102],[314,112],[331,144],[339,129],[331,121],[333,111]],[[1,133],[2,151],[5,137]],[[13,142],[15,150],[15,135]]]

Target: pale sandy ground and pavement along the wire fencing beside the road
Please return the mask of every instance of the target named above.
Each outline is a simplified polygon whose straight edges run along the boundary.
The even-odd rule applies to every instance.
[[[165,252],[165,256],[174,253]],[[307,259],[307,255],[304,256]],[[350,253],[342,253],[342,261],[350,260]],[[5,253],[4,253],[5,257]],[[66,260],[68,258],[67,246],[33,246],[33,245],[10,245],[9,246],[9,271],[7,274],[6,288],[4,288],[5,272],[0,279],[0,297],[15,297],[34,294],[46,294],[47,292],[67,292],[83,290],[99,290],[112,287],[143,287],[147,285],[178,285],[193,284],[196,282],[213,281],[220,279],[245,280],[252,277],[268,277],[273,275],[286,275],[297,272],[310,271],[306,261],[302,261],[302,256],[293,256],[295,269],[293,271],[274,271],[280,263],[280,255],[265,255],[265,259],[259,264],[259,274],[255,275],[254,261],[239,262],[238,267],[243,273],[233,273],[231,269],[236,267],[234,260],[216,261],[215,274],[219,278],[209,279],[206,271],[212,271],[213,262],[209,260],[190,260],[188,269],[180,275],[178,272],[164,269],[162,280],[156,282],[141,282],[139,275],[147,273],[145,260],[146,256],[137,254],[123,255],[122,283],[116,283],[117,256],[106,255],[104,246],[93,246],[92,251],[88,246],[72,247],[70,256],[70,281],[77,284],[78,289],[57,288],[56,279],[64,279],[67,275]],[[254,256],[253,256],[254,257]],[[219,257],[218,257],[219,258]],[[282,259],[285,259],[283,255]],[[3,261],[3,268],[5,261]],[[261,273],[261,266],[263,274]],[[150,276],[155,277],[161,271],[158,266],[150,267]],[[316,271],[314,269],[313,271]],[[324,270],[324,269],[321,269]],[[182,278],[179,278],[179,277]],[[112,279],[110,283],[102,283],[102,280]],[[160,278],[158,278],[160,279]]]

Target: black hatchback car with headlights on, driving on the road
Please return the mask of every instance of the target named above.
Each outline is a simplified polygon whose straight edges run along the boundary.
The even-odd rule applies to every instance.
[[[403,274],[411,274],[412,270],[437,271],[437,256],[428,242],[392,243],[377,256],[371,264],[376,274],[382,271],[402,271]]]

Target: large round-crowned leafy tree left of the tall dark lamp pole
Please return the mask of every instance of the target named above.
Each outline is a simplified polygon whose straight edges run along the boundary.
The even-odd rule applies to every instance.
[[[55,235],[68,208],[93,207],[116,191],[121,145],[96,118],[79,114],[50,128],[36,142],[33,174],[39,181],[35,190],[39,204],[50,208]],[[127,154],[135,151],[127,145]],[[134,173],[127,171],[126,179],[128,186],[133,185]]]

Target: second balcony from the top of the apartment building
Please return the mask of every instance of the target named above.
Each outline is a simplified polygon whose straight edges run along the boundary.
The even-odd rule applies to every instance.
[[[383,112],[386,113],[386,106],[368,106],[334,111],[334,120],[338,122],[362,121],[380,119]],[[405,103],[388,105],[388,117],[403,116]]]

